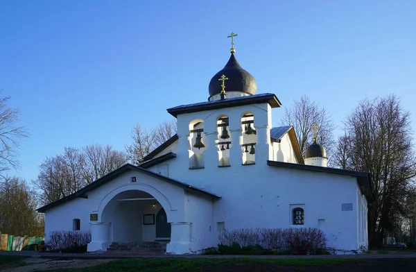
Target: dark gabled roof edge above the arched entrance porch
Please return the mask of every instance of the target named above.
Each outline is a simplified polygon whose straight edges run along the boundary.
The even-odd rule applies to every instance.
[[[180,182],[178,180],[173,180],[172,178],[168,178],[166,176],[162,176],[159,175],[158,173],[146,170],[144,168],[141,167],[136,167],[135,165],[132,164],[125,164],[122,167],[120,167],[119,169],[116,169],[115,171],[112,171],[111,173],[108,173],[107,175],[103,176],[103,178],[98,178],[98,180],[92,182],[91,184],[83,187],[83,189],[78,190],[77,192],[70,194],[69,196],[65,196],[64,198],[61,198],[58,201],[55,201],[53,203],[50,203],[48,205],[44,205],[43,207],[40,207],[39,209],[37,209],[37,212],[46,212],[46,210],[51,209],[52,207],[56,207],[62,203],[65,203],[67,201],[71,201],[74,198],[78,198],[78,197],[84,197],[87,196],[87,193],[89,191],[92,191],[93,189],[95,189],[96,187],[99,187],[111,180],[114,180],[114,178],[117,178],[119,176],[121,176],[123,173],[126,173],[128,171],[131,170],[135,170],[135,171],[139,171],[141,173],[144,173],[145,175],[151,176],[153,178],[157,178],[159,180],[163,180],[165,182],[171,183],[172,185],[181,187],[189,192],[198,192],[200,194],[205,194],[207,196],[211,196],[214,198],[221,198],[221,196],[218,196],[216,194],[212,194],[210,192],[207,192],[203,189],[200,189],[198,187],[193,187],[192,185],[189,185],[185,182]]]

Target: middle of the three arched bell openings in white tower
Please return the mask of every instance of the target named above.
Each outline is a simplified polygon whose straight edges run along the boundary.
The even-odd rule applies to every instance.
[[[229,131],[229,118],[227,115],[220,115],[216,119],[218,132],[218,149],[220,150],[220,160],[218,167],[228,167],[229,164],[229,148],[231,147],[231,132]]]

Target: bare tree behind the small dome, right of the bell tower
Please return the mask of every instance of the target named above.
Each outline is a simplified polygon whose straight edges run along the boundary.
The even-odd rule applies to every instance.
[[[308,96],[301,96],[299,101],[294,101],[293,108],[286,108],[281,126],[293,126],[299,142],[300,150],[304,155],[306,148],[313,143],[313,124],[318,125],[318,142],[327,149],[330,156],[333,151],[333,129],[335,125],[328,114],[327,109],[319,103],[311,101]]]

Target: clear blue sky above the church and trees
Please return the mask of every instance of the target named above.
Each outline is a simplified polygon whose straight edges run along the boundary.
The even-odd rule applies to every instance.
[[[275,126],[302,94],[339,127],[366,97],[397,94],[413,111],[415,10],[404,0],[0,1],[0,89],[31,133],[10,175],[36,178],[64,146],[123,150],[137,122],[151,128],[173,118],[166,108],[206,101],[232,31],[258,93],[283,104]]]

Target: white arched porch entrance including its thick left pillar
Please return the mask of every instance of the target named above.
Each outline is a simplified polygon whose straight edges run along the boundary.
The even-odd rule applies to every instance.
[[[98,221],[91,222],[88,251],[107,250],[113,242],[171,241],[171,203],[161,196],[130,186],[107,194],[98,207]]]

